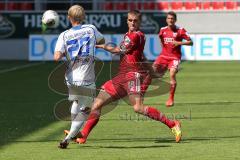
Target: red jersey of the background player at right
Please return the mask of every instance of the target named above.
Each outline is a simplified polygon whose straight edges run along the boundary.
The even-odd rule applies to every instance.
[[[159,38],[162,42],[162,52],[160,55],[174,59],[181,59],[182,53],[181,45],[175,47],[173,42],[182,41],[183,39],[191,40],[187,31],[178,26],[173,31],[168,26],[162,27],[159,32]]]

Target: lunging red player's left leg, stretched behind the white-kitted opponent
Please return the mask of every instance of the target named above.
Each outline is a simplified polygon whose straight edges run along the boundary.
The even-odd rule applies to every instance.
[[[104,105],[109,104],[110,102],[112,102],[111,96],[105,91],[100,91],[97,98],[94,101],[94,104],[92,106],[87,122],[81,131],[82,137],[76,140],[78,143],[86,142],[89,133],[99,121],[102,107]]]

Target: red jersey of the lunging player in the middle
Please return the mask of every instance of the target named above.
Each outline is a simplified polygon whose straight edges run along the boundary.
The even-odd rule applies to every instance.
[[[127,32],[120,44],[121,57],[119,73],[140,72],[144,70],[143,54],[145,35],[141,31]]]

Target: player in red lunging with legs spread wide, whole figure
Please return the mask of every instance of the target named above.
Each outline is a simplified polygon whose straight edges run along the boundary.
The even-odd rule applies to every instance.
[[[102,90],[94,101],[87,123],[82,132],[79,133],[82,138],[78,138],[77,142],[85,143],[90,131],[98,123],[101,108],[104,105],[127,95],[135,112],[164,123],[172,130],[176,142],[180,141],[181,128],[179,121],[170,120],[156,108],[143,105],[143,95],[151,82],[151,78],[144,65],[145,35],[139,31],[140,23],[140,12],[130,11],[127,19],[129,30],[125,34],[120,47],[97,45],[98,48],[121,55],[119,72],[116,77],[102,86]]]

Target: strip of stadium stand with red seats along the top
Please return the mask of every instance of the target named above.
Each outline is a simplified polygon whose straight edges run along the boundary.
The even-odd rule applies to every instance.
[[[86,10],[126,11],[132,9],[145,11],[232,11],[239,10],[237,0],[5,0],[0,2],[0,10],[66,10],[78,3]],[[35,6],[40,6],[36,8]]]

